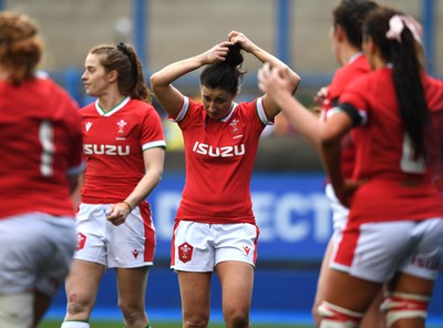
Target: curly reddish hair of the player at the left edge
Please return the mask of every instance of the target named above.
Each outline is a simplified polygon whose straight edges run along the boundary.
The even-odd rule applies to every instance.
[[[0,13],[0,62],[8,69],[8,79],[14,85],[34,78],[42,50],[37,24],[28,16]]]

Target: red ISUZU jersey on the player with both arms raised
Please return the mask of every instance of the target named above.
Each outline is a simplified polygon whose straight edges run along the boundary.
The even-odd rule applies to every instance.
[[[176,219],[203,223],[255,223],[250,178],[266,124],[261,98],[234,103],[220,121],[202,103],[184,98],[175,121],[184,136],[186,184]]]

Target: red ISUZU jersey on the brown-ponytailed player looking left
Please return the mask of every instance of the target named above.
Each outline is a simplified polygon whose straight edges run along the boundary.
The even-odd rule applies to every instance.
[[[128,96],[109,112],[95,101],[80,113],[86,160],[82,202],[121,202],[145,174],[143,151],[166,147],[159,115],[148,103]]]

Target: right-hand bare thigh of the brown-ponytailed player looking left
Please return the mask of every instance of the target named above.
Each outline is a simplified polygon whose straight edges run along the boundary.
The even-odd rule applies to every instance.
[[[122,307],[144,308],[148,266],[116,268],[119,304]]]

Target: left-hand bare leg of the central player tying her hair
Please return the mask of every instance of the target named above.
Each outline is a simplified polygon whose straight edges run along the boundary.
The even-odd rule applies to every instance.
[[[212,273],[177,270],[177,276],[182,298],[183,327],[207,327],[210,311]]]

